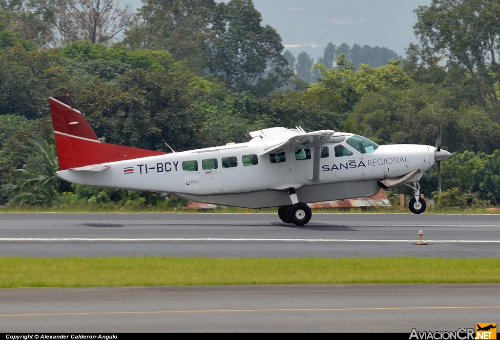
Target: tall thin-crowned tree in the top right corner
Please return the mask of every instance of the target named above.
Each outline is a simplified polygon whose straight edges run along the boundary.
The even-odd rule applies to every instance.
[[[500,4],[496,0],[432,0],[415,9],[422,50],[443,54],[467,71],[478,104],[498,101]]]

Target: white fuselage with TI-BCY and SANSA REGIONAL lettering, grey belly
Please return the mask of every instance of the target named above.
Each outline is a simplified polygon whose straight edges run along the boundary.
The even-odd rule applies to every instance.
[[[84,185],[168,192],[201,202],[264,208],[290,204],[285,191],[289,187],[296,189],[299,201],[304,203],[372,196],[379,190],[376,181],[419,169],[408,180],[416,181],[434,163],[432,146],[381,145],[360,153],[344,140],[323,144],[320,179],[314,182],[310,179],[314,151],[305,148],[301,156],[300,148],[296,149],[299,154],[296,150],[284,150],[281,158],[276,158],[277,153],[272,157],[264,154],[266,148],[279,142],[256,140],[109,162],[102,171],[62,170],[57,175]],[[337,145],[351,154],[335,155]]]

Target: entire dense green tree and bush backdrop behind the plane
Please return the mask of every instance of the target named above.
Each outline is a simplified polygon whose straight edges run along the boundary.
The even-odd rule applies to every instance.
[[[328,44],[317,64],[306,53],[283,53],[251,0],[143,0],[131,20],[118,12],[115,21],[128,23],[114,41],[102,24],[94,38],[83,26],[64,37],[62,16],[48,4],[0,0],[0,204],[165,204],[164,195],[54,176],[46,98],[63,93],[106,142],[163,151],[164,143],[181,151],[295,125],[433,145],[440,125],[453,157],[442,163],[437,203],[500,204],[496,1],[418,7],[420,43],[404,61],[386,48]],[[421,184],[432,196],[435,168]]]

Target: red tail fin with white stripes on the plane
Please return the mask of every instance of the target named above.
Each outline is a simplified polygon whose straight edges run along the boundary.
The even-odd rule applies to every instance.
[[[51,97],[49,101],[60,170],[165,154],[101,143],[69,97]]]

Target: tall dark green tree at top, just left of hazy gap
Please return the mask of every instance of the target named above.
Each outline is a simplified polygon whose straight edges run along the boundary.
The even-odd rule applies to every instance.
[[[261,26],[251,0],[230,0],[215,7],[209,69],[227,86],[262,96],[292,75],[281,55],[281,37],[269,25]]]

